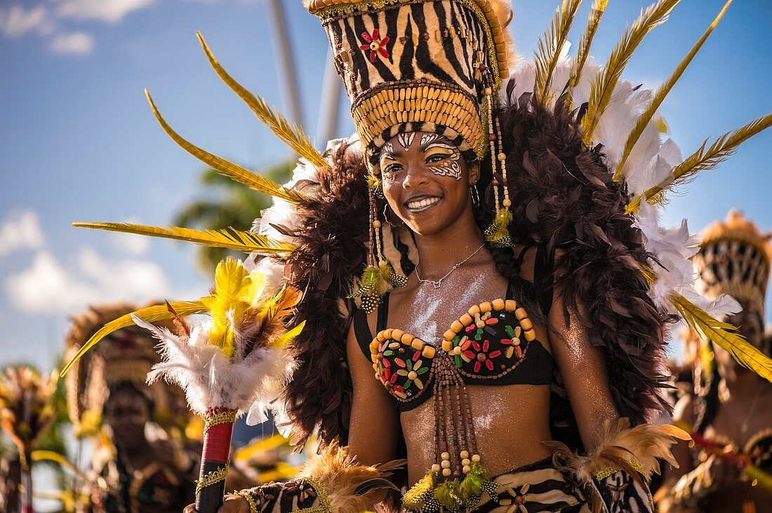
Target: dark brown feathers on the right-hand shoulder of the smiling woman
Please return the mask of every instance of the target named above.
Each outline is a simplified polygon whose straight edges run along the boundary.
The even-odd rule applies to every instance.
[[[625,186],[612,180],[601,147],[584,147],[576,116],[562,100],[550,110],[526,93],[499,120],[513,240],[530,244],[535,238],[547,251],[562,250],[556,289],[568,308],[584,305],[590,343],[605,349],[618,413],[633,424],[645,422],[668,407],[658,390],[667,386],[663,328],[669,318],[648,296],[641,268],[651,255],[625,214]],[[482,166],[490,174],[487,159]]]

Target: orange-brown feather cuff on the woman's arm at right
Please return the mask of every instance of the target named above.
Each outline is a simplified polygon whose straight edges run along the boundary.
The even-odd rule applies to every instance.
[[[677,439],[691,440],[691,437],[686,431],[670,424],[630,427],[630,421],[621,418],[615,425],[610,420],[605,422],[598,446],[587,456],[574,453],[561,442],[544,444],[553,451],[556,467],[571,472],[584,484],[591,484],[599,472],[608,471],[609,467],[624,470],[632,476],[643,474],[647,480],[652,472],[659,474],[657,458],[678,467],[670,452]]]

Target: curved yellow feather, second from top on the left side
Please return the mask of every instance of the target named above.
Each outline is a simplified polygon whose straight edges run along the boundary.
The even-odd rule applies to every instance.
[[[212,166],[219,174],[225,175],[234,181],[245,184],[247,187],[250,187],[255,191],[280,197],[283,200],[289,201],[290,203],[301,203],[306,200],[306,197],[297,191],[282,187],[273,180],[269,180],[268,178],[262,177],[256,173],[252,173],[252,171],[245,169],[238,164],[233,164],[232,162],[229,162],[222,157],[218,157],[215,154],[210,154],[206,150],[202,150],[198,146],[195,146],[195,144],[189,143],[177,132],[175,132],[174,129],[169,126],[169,123],[164,120],[164,116],[161,116],[161,113],[155,106],[153,98],[150,96],[150,92],[147,89],[145,89],[145,96],[147,96],[147,103],[150,103],[155,119],[158,120],[158,123],[161,125],[161,128],[164,129],[164,132],[166,132],[175,143],[178,143],[178,145],[183,150],[187,151],[198,160],[201,160],[201,162],[204,164]]]

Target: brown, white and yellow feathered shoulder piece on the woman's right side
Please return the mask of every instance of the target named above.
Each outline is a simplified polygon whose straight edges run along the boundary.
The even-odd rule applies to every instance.
[[[664,331],[678,317],[722,346],[742,348],[730,353],[772,379],[770,359],[717,320],[739,305],[695,292],[689,258],[699,239],[686,221],[676,228],[659,225],[667,191],[715,167],[772,124],[772,115],[764,116],[683,158],[657,112],[730,2],[658,90],[621,79],[635,48],[677,3],[660,0],[645,9],[604,66],[597,66],[588,52],[607,2],[594,2],[571,57],[567,32],[579,2],[564,0],[533,62],[511,73],[500,90],[511,235],[560,249],[556,285],[569,308],[584,306],[591,343],[607,355],[616,406],[633,424],[665,406],[658,393],[664,386]]]

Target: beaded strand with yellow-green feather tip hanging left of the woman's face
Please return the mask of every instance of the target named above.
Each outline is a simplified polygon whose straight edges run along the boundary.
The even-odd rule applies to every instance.
[[[378,175],[367,174],[367,194],[370,200],[367,241],[367,267],[360,278],[359,289],[350,294],[349,298],[361,298],[361,309],[370,313],[381,304],[389,286],[404,287],[408,277],[394,271],[391,262],[384,257],[381,244],[381,221],[378,219],[378,208],[375,197],[383,198],[383,184]]]

